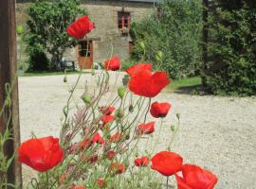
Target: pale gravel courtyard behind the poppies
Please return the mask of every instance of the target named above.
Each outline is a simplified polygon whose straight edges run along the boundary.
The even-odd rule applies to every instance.
[[[77,77],[68,76],[68,84],[74,84]],[[63,78],[19,78],[22,141],[29,138],[31,130],[38,137],[59,135],[62,108],[68,96]],[[111,78],[112,85],[115,78]],[[75,96],[82,94],[85,79],[90,82],[92,78],[82,75]],[[219,178],[217,189],[256,188],[256,98],[162,93],[155,100],[168,100],[173,105],[158,140],[155,134],[157,150],[167,146],[170,126],[176,124],[175,113],[180,113],[181,127],[174,151],[185,163],[196,163],[215,173]],[[156,133],[158,131],[156,128]],[[143,148],[143,144],[140,147]],[[25,177],[30,174],[27,169],[30,170],[25,167]]]

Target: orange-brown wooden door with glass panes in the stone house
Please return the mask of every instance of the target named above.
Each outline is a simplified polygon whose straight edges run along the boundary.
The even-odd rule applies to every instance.
[[[78,45],[78,61],[81,69],[91,69],[93,65],[92,41],[81,41]]]

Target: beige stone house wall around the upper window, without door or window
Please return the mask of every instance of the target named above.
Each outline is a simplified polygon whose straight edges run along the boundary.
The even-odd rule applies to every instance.
[[[124,37],[118,26],[118,12],[121,10],[131,12],[131,22],[139,21],[153,10],[153,4],[131,3],[119,1],[87,0],[82,4],[87,9],[90,19],[96,28],[88,35],[89,38],[99,38],[94,41],[94,61],[102,61],[112,56],[121,60],[129,58],[130,37]],[[113,48],[112,48],[113,47]]]

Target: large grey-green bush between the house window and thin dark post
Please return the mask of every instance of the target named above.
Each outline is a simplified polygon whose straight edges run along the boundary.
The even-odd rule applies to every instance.
[[[155,62],[171,77],[193,75],[201,62],[201,15],[201,1],[163,1],[151,17],[132,24],[131,35],[137,42],[133,57]]]

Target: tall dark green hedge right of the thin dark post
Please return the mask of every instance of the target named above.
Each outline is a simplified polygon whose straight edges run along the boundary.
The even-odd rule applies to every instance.
[[[213,94],[256,94],[256,6],[218,0],[210,9],[207,86]]]

